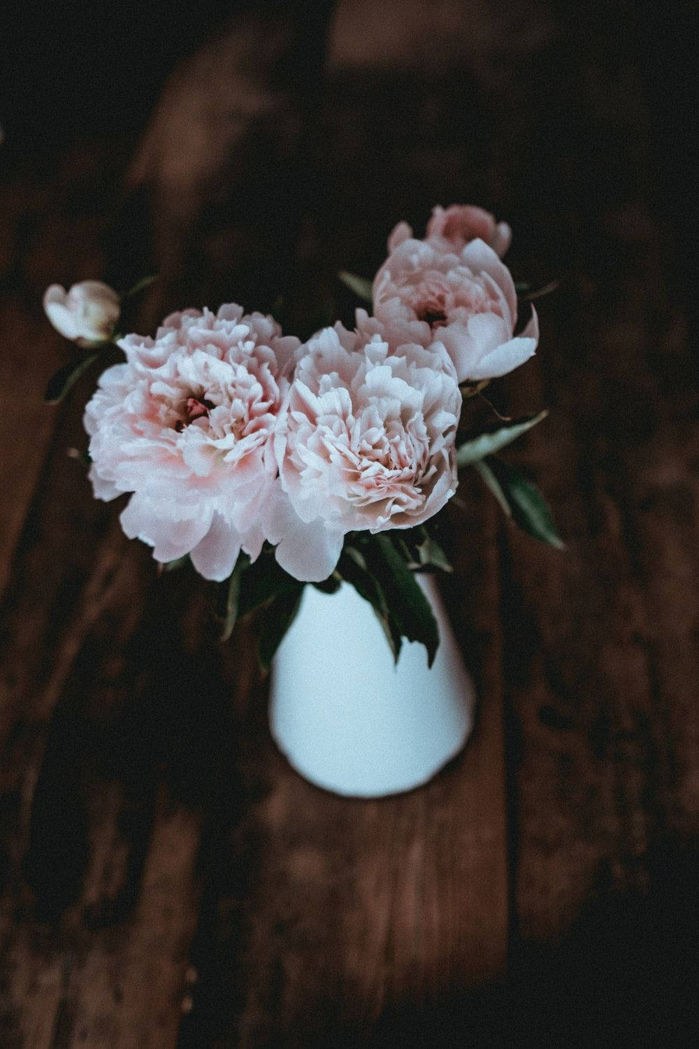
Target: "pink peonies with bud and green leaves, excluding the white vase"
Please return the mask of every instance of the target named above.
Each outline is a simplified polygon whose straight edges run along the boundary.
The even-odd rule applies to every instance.
[[[343,580],[371,603],[396,659],[407,638],[432,663],[437,627],[414,573],[450,571],[434,526],[459,466],[475,466],[517,523],[561,545],[537,489],[493,456],[545,413],[498,416],[477,433],[461,419],[537,345],[533,309],[515,335],[515,285],[498,257],[509,237],[473,207],[435,209],[424,240],[399,223],[373,282],[375,315],[358,308],[353,330],[337,322],[303,344],[235,304],[173,314],[155,338],[118,338],[115,293],[60,290],[99,315],[100,340],[126,358],[103,371],[85,411],[95,496],[130,494],[122,526],[156,560],[189,556],[204,578],[227,581],[224,637],[265,607],[263,665],[304,585],[332,592]],[[343,279],[367,296],[367,281]],[[104,343],[64,323],[51,293],[49,319],[93,350],[53,377],[57,400]]]

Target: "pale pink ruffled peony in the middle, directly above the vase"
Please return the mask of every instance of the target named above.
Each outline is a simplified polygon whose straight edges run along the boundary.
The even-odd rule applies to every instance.
[[[310,582],[331,574],[347,532],[412,528],[456,491],[451,361],[364,319],[365,330],[336,324],[309,340],[275,437],[288,499],[268,505],[266,533],[282,568]]]

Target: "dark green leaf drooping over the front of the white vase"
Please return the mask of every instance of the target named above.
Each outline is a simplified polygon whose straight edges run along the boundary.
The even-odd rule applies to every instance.
[[[402,637],[424,645],[428,666],[432,666],[439,645],[439,630],[430,602],[415,576],[387,535],[374,536],[365,556],[367,568],[384,592],[390,618]]]

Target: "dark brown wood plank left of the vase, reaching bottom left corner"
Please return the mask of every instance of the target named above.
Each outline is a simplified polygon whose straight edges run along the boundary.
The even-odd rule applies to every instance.
[[[32,1047],[131,1046],[144,1030],[169,1046],[200,817],[162,779],[189,700],[166,672],[177,628],[157,609],[185,607],[188,582],[155,580],[113,508],[66,470],[78,425],[60,429],[5,602],[2,1029]]]

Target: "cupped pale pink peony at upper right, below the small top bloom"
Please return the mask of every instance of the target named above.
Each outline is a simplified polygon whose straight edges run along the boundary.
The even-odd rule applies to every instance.
[[[374,278],[373,300],[376,317],[403,325],[413,341],[443,343],[460,383],[504,376],[537,348],[536,311],[516,337],[512,278],[483,240],[457,254],[401,239]]]

